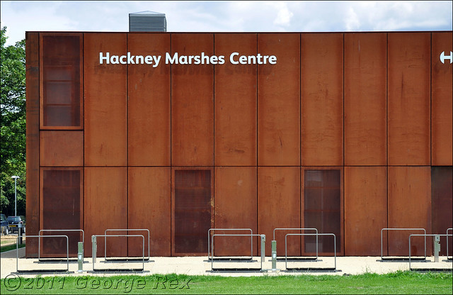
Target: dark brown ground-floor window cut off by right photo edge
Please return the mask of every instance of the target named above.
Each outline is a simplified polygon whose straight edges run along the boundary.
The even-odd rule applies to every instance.
[[[452,166],[431,167],[431,216],[432,233],[447,233],[447,228],[452,228]],[[452,230],[449,230],[449,234]],[[448,255],[452,257],[452,237],[448,238]],[[439,255],[447,255],[445,237],[440,238]]]

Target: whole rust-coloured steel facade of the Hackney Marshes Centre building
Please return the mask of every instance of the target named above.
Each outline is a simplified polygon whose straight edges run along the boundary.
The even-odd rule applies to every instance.
[[[27,32],[27,234],[82,229],[86,257],[112,228],[149,229],[151,256],[207,255],[209,228],[265,234],[268,254],[275,228],[334,233],[347,256],[379,256],[382,228],[445,234],[452,51],[451,31]],[[408,255],[407,236],[384,233],[384,255]],[[216,239],[216,255],[251,249]],[[45,240],[42,256],[65,255]],[[104,247],[142,255],[133,237]]]

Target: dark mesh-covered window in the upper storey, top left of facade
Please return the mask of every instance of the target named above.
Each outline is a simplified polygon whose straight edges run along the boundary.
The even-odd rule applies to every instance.
[[[42,35],[41,126],[81,127],[81,37]]]

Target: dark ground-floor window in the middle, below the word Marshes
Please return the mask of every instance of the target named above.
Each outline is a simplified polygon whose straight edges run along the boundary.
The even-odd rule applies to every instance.
[[[175,252],[206,253],[211,171],[175,170]]]

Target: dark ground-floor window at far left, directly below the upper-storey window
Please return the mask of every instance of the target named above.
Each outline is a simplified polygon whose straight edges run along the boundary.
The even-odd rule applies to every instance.
[[[74,230],[81,228],[81,170],[45,169],[42,173],[42,228],[45,230]],[[67,235],[69,253],[77,253],[79,232],[45,232],[43,235]],[[66,256],[65,238],[41,240],[42,254]]]

